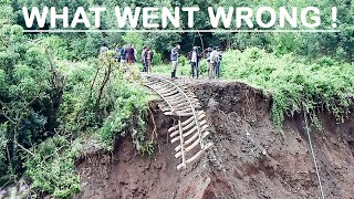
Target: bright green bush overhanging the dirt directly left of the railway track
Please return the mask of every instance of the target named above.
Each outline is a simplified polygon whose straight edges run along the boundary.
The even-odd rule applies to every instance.
[[[131,134],[133,144],[138,153],[144,154],[146,145],[146,124],[148,115],[148,101],[146,91],[133,84],[118,86],[118,95],[113,103],[114,109],[105,119],[100,138],[108,150],[113,150],[115,136]]]

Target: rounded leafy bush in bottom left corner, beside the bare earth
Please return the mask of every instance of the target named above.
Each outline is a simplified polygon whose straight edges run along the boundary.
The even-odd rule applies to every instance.
[[[81,190],[80,178],[75,174],[75,156],[71,153],[66,137],[55,136],[41,143],[25,161],[25,175],[31,180],[31,190],[53,198],[70,198]]]

